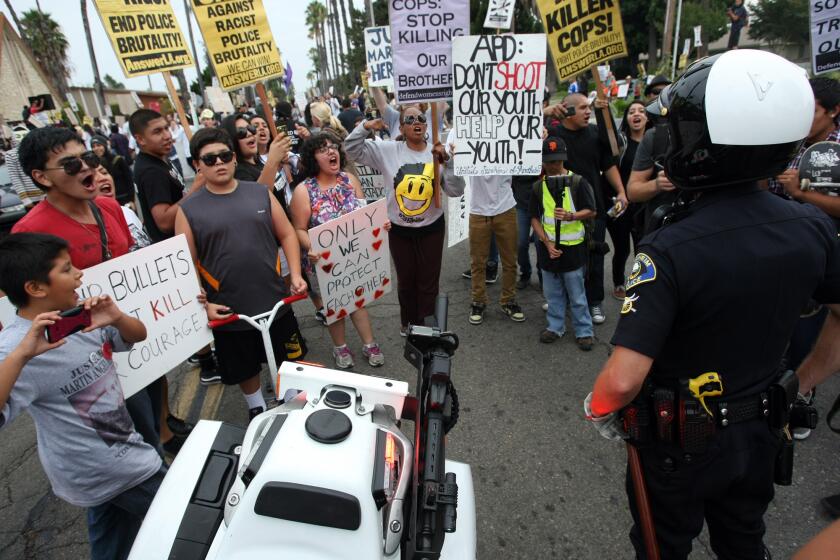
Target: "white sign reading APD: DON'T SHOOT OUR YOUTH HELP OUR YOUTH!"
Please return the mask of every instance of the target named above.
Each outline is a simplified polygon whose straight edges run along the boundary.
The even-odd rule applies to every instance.
[[[545,35],[452,42],[455,174],[539,175]]]

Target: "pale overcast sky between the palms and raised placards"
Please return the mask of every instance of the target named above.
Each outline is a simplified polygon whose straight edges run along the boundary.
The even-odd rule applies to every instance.
[[[364,0],[353,1],[357,9],[364,9]],[[170,0],[170,3],[175,10],[175,17],[178,18],[184,38],[189,42],[184,0]],[[23,12],[36,7],[35,0],[11,0],[11,4],[18,17],[21,17]],[[85,41],[84,28],[82,27],[80,3],[76,0],[40,0],[40,4],[44,12],[51,14],[53,19],[59,22],[70,43],[68,58],[72,64],[71,85],[93,85],[93,69]],[[307,53],[310,48],[315,46],[314,41],[307,37],[305,16],[307,4],[309,4],[309,0],[263,0],[274,40],[283,53],[284,62],[288,62],[292,66],[292,80],[297,91],[303,91],[309,87],[306,74],[311,69],[311,62]],[[14,27],[14,22],[9,16],[9,10],[6,8],[5,2],[0,3],[0,11]],[[123,75],[122,68],[116,55],[114,55],[111,42],[108,40],[108,35],[105,33],[105,28],[102,26],[102,20],[99,19],[99,13],[96,11],[93,0],[88,0],[88,19],[90,20],[99,75],[104,78],[105,74],[110,74],[130,89],[148,90],[149,80],[145,76],[126,78]],[[201,38],[201,31],[195,18],[191,17],[190,20],[203,70],[204,41]],[[189,82],[195,80],[194,67],[185,69],[185,72]],[[166,91],[166,85],[160,74],[152,74],[151,80],[154,91]]]

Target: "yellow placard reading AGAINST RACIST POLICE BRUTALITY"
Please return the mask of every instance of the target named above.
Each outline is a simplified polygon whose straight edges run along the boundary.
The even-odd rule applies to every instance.
[[[262,0],[192,3],[222,89],[238,89],[283,75],[280,51]]]

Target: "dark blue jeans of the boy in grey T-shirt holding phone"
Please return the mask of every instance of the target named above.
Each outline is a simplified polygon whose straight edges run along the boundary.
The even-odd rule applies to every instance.
[[[162,466],[151,478],[102,505],[88,508],[91,560],[125,560],[140,525],[166,475]]]

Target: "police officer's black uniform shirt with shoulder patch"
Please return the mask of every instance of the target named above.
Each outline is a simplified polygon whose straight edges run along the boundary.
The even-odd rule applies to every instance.
[[[708,191],[646,236],[612,343],[654,359],[654,381],[715,371],[729,397],[764,390],[812,295],[840,302],[831,219],[755,185]]]

